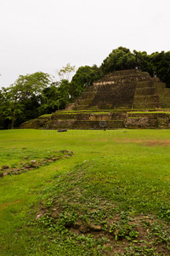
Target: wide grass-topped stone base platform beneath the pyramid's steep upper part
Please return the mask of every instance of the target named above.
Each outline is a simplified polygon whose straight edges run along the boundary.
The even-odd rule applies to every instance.
[[[170,112],[55,113],[30,120],[21,129],[169,129]]]

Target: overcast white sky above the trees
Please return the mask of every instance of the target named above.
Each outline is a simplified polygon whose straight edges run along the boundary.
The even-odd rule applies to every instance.
[[[0,0],[0,87],[68,62],[100,66],[119,46],[169,51],[170,0]]]

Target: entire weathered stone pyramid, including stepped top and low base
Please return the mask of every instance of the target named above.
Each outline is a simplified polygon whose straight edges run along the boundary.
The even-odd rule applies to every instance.
[[[136,69],[95,81],[65,110],[20,126],[36,129],[170,128],[170,89]]]

